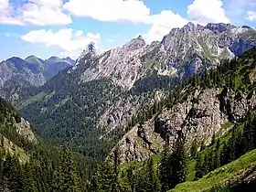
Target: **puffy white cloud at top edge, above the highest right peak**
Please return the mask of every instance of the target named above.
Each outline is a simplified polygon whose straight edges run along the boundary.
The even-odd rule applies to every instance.
[[[187,6],[187,16],[201,24],[229,23],[222,0],[195,0]]]

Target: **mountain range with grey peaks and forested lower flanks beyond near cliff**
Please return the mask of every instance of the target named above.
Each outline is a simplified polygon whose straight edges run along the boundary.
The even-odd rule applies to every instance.
[[[188,23],[150,45],[139,36],[101,55],[84,51],[72,68],[32,93],[23,91],[18,108],[47,140],[71,142],[84,155],[101,150],[104,156],[133,119],[181,80],[216,69],[221,60],[240,57],[255,45],[254,29],[229,24]]]

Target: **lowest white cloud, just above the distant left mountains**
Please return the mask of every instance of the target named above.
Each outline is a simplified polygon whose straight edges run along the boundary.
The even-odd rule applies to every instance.
[[[57,32],[52,30],[34,30],[30,31],[21,39],[30,43],[45,45],[47,48],[59,48],[62,55],[78,57],[82,49],[86,48],[89,42],[95,42],[96,48],[99,48],[101,36],[99,33],[83,34],[82,31],[73,31],[72,28],[60,29]]]

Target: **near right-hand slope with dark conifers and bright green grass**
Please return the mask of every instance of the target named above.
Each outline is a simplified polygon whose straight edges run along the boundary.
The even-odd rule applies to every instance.
[[[136,158],[125,163],[133,146],[137,147],[137,150],[133,150],[136,156],[148,144],[148,137],[142,129],[148,119],[141,116],[135,118],[135,127],[131,127],[130,133],[133,132],[133,140],[138,139],[141,144],[133,143],[126,134],[123,141],[112,150],[108,161],[92,177],[91,190],[167,191],[174,188],[174,191],[239,191],[253,187],[256,148],[255,69],[256,48],[252,48],[239,59],[226,60],[217,69],[206,71],[201,77],[196,74],[182,82],[170,91],[168,99],[158,103],[152,113],[145,115],[150,122],[152,117],[155,121],[153,127],[148,126],[148,129],[156,131],[153,134],[162,139],[163,145],[159,147],[162,152],[154,153],[152,148],[148,148],[150,153],[143,154],[140,163]],[[206,128],[207,134],[191,139],[191,133],[197,133],[197,129],[193,131],[193,127],[198,127],[197,121],[194,121],[196,124],[193,126],[188,123],[167,128],[157,123],[163,113],[172,115],[166,110],[175,109],[177,104],[186,102],[187,96],[195,88],[202,92],[220,90],[216,92],[216,97],[220,98],[219,112],[225,120],[220,122],[220,126],[209,126]],[[200,104],[202,101],[195,102]],[[188,110],[188,113],[193,123],[201,115],[195,108],[191,109],[194,110]],[[190,130],[187,129],[189,127]],[[171,129],[170,132],[168,129]]]

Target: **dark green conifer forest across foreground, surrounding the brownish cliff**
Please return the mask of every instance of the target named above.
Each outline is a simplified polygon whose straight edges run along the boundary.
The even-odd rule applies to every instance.
[[[240,59],[223,60],[216,69],[206,69],[202,74],[175,82],[166,99],[155,102],[147,112],[134,116],[125,131],[118,131],[116,140],[112,142],[120,139],[134,125],[152,118],[157,128],[157,115],[176,103],[186,101],[195,87],[201,90],[218,88],[222,90],[220,94],[232,90],[237,100],[244,92],[249,92],[250,96],[255,90],[255,81],[249,80],[248,71],[255,69],[255,58],[254,48]],[[184,88],[187,92],[182,91]],[[256,148],[255,109],[240,119],[227,112],[231,124],[229,131],[223,135],[212,135],[209,144],[194,141],[188,145],[186,135],[178,132],[176,142],[169,144],[166,140],[161,153],[139,163],[121,164],[118,145],[112,155],[105,155],[100,161],[78,153],[71,144],[56,146],[38,135],[37,142],[29,142],[14,128],[21,119],[16,109],[3,99],[0,107],[0,191],[165,192],[175,190],[181,183],[209,177],[212,171],[236,162]],[[191,169],[192,165],[194,169]],[[241,186],[213,186],[209,191],[220,189],[239,191]]]

